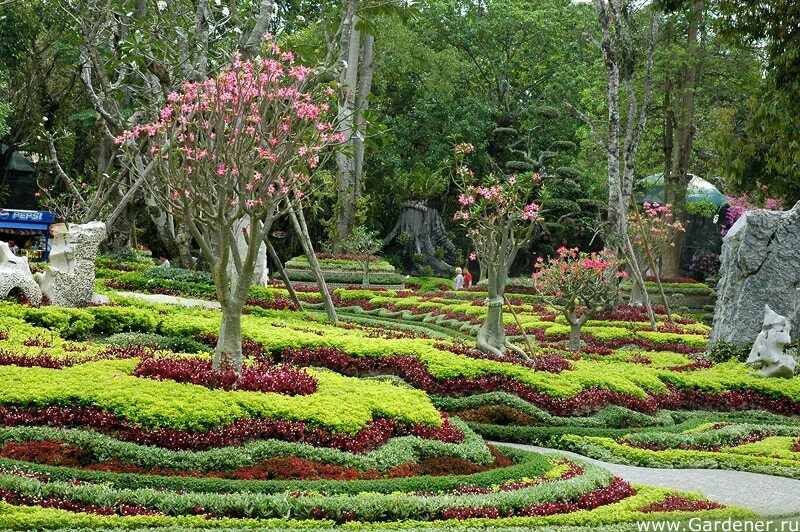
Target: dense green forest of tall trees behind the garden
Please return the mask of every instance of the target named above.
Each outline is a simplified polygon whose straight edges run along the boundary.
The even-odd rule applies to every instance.
[[[441,214],[455,246],[437,248],[440,258],[463,263],[470,247],[452,222],[455,143],[476,147],[478,173],[548,176],[546,222],[530,250],[599,248],[608,197],[597,142],[608,125],[597,46],[603,3],[0,0],[0,205],[19,150],[37,163],[42,208],[111,218],[112,249],[145,243],[179,255],[179,221],[165,221],[113,136],[151,120],[166,94],[218,72],[235,50],[257,55],[253,39],[270,31],[301,62],[342,80],[340,110],[351,117],[349,150],[317,172],[305,204],[317,248],[343,249],[361,226],[386,237],[416,205]],[[658,22],[636,179],[665,174],[680,217],[689,214],[689,175],[753,204],[800,200],[800,7],[789,0],[608,5],[625,11],[621,63],[631,72],[642,71],[648,27]],[[631,78],[623,122],[626,98],[645,83]],[[276,228],[279,254],[300,253],[288,222]],[[414,257],[403,263],[409,236],[395,233],[384,254],[419,270]],[[519,267],[527,260],[523,253]]]

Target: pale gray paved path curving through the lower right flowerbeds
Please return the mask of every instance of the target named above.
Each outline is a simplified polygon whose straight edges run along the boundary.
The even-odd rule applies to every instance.
[[[749,508],[761,515],[800,514],[800,480],[726,469],[654,469],[601,462],[569,451],[490,442],[539,453],[559,453],[608,469],[628,482],[700,492],[721,504]]]

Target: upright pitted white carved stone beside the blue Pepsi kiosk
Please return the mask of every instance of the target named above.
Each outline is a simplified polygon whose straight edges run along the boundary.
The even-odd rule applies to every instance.
[[[50,264],[37,278],[50,303],[61,307],[89,304],[94,294],[94,259],[106,237],[103,222],[51,226]]]

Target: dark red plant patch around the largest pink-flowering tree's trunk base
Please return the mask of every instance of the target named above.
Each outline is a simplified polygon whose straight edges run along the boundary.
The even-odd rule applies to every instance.
[[[131,374],[155,380],[173,380],[206,388],[309,395],[317,381],[304,369],[256,363],[245,365],[241,375],[232,369],[213,369],[212,361],[199,357],[144,357]]]

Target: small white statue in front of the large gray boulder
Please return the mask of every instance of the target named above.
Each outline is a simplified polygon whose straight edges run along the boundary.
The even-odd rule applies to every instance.
[[[783,348],[792,342],[790,331],[789,320],[765,305],[764,325],[745,364],[761,368],[762,377],[791,379],[797,362],[783,352]]]

